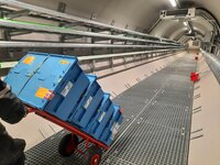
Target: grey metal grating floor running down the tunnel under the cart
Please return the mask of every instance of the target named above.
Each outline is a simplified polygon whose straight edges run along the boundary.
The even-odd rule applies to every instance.
[[[187,165],[194,84],[194,56],[186,55],[114,99],[124,122],[103,153],[103,165]],[[81,165],[78,154],[63,158],[62,131],[26,152],[26,165]]]

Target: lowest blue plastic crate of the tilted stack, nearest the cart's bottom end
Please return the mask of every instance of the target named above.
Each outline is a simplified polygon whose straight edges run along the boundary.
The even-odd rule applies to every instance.
[[[119,131],[119,128],[123,121],[123,116],[121,113],[120,107],[114,106],[114,112],[112,116],[111,121],[108,123],[106,129],[103,130],[100,141],[103,142],[107,145],[111,145],[113,142],[116,134]]]

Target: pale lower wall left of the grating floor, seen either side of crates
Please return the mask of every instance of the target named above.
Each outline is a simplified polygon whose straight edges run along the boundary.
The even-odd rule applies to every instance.
[[[133,69],[129,69],[127,72],[109,76],[103,79],[99,79],[99,84],[101,85],[105,91],[110,92],[112,96],[114,96],[114,94],[119,95],[124,90],[127,90],[124,84],[130,84],[130,86],[133,86],[138,84],[136,78],[143,80],[144,78],[146,78],[145,75],[151,76],[152,72],[156,73],[156,69],[160,70],[161,68],[165,67],[166,65],[170,64],[172,62],[176,61],[183,55],[184,53],[179,53],[175,56],[169,56],[167,58],[152,62],[150,64]],[[105,73],[96,73],[96,75],[98,74],[105,74]],[[3,122],[3,124],[7,127],[8,132],[13,138],[21,138],[26,141],[28,143],[26,150],[40,143],[45,138],[48,138],[53,135],[55,132],[62,130],[59,127],[35,114],[29,114],[20,123],[14,125],[7,124],[6,122]]]

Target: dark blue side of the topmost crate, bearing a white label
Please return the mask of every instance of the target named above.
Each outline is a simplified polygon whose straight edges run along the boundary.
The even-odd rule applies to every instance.
[[[45,107],[47,112],[65,121],[75,112],[89,86],[89,79],[78,65],[67,76],[53,100]]]

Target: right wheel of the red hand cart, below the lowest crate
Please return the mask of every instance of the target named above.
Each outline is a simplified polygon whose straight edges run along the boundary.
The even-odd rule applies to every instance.
[[[101,161],[102,151],[98,146],[89,147],[85,153],[86,165],[99,165]]]

